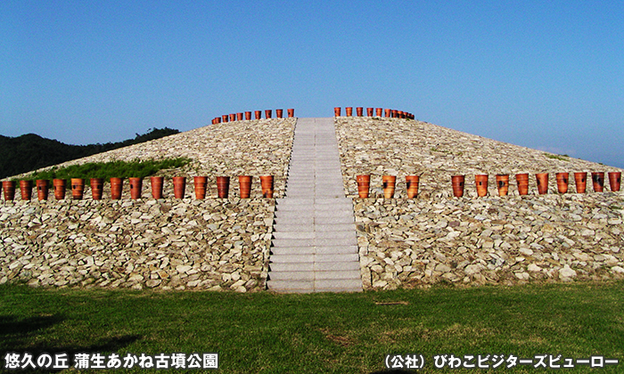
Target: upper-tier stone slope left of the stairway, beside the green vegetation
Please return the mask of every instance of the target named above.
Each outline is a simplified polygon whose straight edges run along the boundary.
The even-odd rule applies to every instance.
[[[296,118],[272,118],[234,121],[196,128],[151,142],[111,150],[58,165],[65,167],[87,162],[136,159],[169,159],[187,157],[193,163],[185,170],[167,176],[207,175],[207,196],[217,195],[216,177],[232,177],[230,191],[238,193],[237,175],[254,176],[252,197],[260,196],[259,175],[275,175],[275,197],[282,197],[291,157],[292,136]],[[19,177],[19,176],[18,176]],[[193,178],[187,180],[187,197],[194,197]],[[90,191],[85,193],[89,199]],[[150,196],[148,181],[144,181],[144,196]],[[127,186],[125,191],[127,191]],[[164,196],[173,195],[171,181],[165,182]],[[167,193],[168,192],[168,193]],[[129,195],[128,197],[129,198]]]

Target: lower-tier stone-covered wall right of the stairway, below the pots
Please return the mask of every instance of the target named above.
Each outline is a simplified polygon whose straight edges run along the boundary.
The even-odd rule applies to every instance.
[[[354,199],[365,289],[624,279],[624,194]]]

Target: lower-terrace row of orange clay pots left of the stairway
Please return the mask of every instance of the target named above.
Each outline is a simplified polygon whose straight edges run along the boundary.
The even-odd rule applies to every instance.
[[[239,175],[238,183],[240,188],[240,195],[242,199],[250,198],[251,191],[251,175]],[[172,178],[173,191],[176,199],[183,199],[185,196],[186,177],[175,176]],[[103,178],[91,178],[91,193],[94,200],[102,199],[103,197]],[[128,178],[130,184],[130,199],[141,199],[141,191],[143,189],[143,178]],[[152,198],[162,199],[162,186],[164,183],[164,177],[152,176],[150,177],[150,183],[152,185]],[[194,176],[193,185],[195,188],[195,199],[205,199],[206,186],[208,183],[207,176]],[[37,180],[37,199],[46,200],[48,197],[49,181]],[[71,198],[82,199],[85,191],[85,180],[80,178],[71,178]],[[267,199],[273,199],[273,175],[260,176],[260,188],[262,190],[262,196]],[[4,181],[2,183],[4,190],[4,199],[12,200],[15,198],[15,182]],[[227,195],[230,188],[229,176],[217,177],[217,192],[220,199],[227,199]],[[33,183],[32,181],[20,181],[21,199],[29,200],[32,196]],[[65,179],[53,180],[53,192],[54,198],[57,200],[65,199],[65,191],[67,189],[67,181]],[[123,190],[123,178],[111,178],[111,199],[121,199],[121,191]]]

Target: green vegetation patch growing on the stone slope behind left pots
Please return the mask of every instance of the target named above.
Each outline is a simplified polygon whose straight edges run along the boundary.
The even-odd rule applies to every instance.
[[[144,161],[111,161],[111,162],[91,162],[83,165],[72,165],[70,167],[52,167],[49,170],[33,173],[26,178],[29,180],[37,179],[70,179],[70,178],[104,178],[108,180],[111,177],[144,178],[146,176],[155,175],[160,170],[185,167],[191,159],[148,159]]]

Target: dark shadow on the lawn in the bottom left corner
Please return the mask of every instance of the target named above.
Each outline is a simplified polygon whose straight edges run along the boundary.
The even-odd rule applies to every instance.
[[[13,315],[0,316],[0,372],[14,372],[5,368],[5,354],[16,353],[20,357],[28,353],[33,356],[33,362],[37,362],[40,354],[67,354],[70,358],[68,364],[73,365],[74,354],[78,353],[105,353],[118,352],[120,349],[140,339],[139,335],[125,335],[99,339],[91,345],[67,345],[42,342],[37,337],[44,333],[45,329],[51,329],[54,325],[62,323],[65,319],[61,316],[37,316],[18,318]],[[62,370],[36,369],[27,370],[29,373],[49,373]]]

